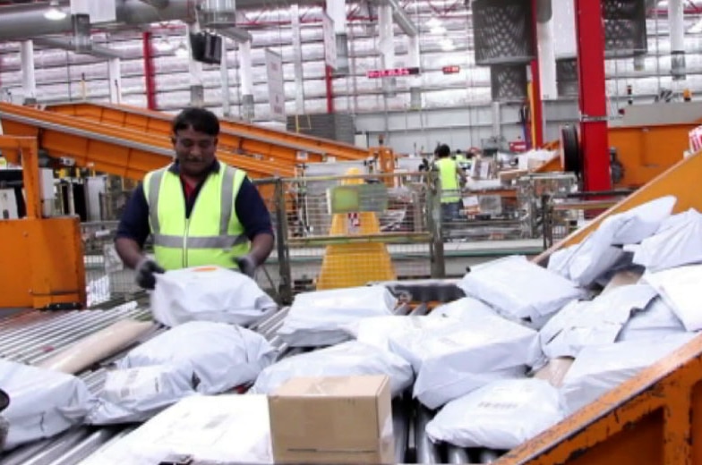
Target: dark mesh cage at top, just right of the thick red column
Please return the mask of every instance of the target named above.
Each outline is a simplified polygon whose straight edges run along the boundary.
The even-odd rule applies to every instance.
[[[646,5],[642,0],[603,0],[605,57],[645,53]]]

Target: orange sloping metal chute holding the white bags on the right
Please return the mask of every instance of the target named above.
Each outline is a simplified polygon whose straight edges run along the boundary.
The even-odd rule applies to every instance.
[[[582,241],[606,216],[664,195],[674,195],[675,212],[702,210],[694,189],[702,178],[702,152],[682,160],[644,188],[546,250]],[[702,335],[629,379],[560,424],[510,451],[495,465],[621,465],[702,463]]]

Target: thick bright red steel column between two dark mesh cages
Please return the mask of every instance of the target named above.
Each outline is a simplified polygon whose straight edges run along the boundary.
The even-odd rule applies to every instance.
[[[583,180],[586,191],[610,190],[602,7],[599,0],[575,0],[575,10]]]

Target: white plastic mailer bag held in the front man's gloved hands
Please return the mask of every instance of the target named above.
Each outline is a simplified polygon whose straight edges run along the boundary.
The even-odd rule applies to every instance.
[[[200,266],[156,275],[151,313],[167,326],[187,321],[250,325],[276,302],[247,275],[219,266]]]

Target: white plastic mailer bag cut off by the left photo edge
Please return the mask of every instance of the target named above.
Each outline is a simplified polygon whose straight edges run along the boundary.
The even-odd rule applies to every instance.
[[[3,359],[0,387],[10,396],[3,412],[10,424],[6,450],[81,424],[94,402],[85,383],[73,375]]]

